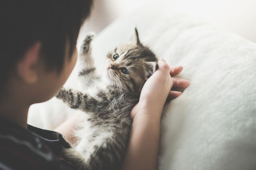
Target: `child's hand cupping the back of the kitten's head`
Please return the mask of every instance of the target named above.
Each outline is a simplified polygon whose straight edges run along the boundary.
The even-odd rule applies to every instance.
[[[171,77],[180,74],[182,66],[170,68],[164,60],[159,60],[158,65],[158,70],[148,78],[142,88],[140,100],[131,111],[132,118],[145,114],[160,118],[167,97],[172,100],[182,94],[172,91],[171,88],[186,88],[190,84],[188,80]]]

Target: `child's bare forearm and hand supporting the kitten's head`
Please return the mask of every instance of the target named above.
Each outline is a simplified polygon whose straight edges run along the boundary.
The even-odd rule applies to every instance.
[[[160,118],[166,98],[176,98],[181,92],[170,91],[172,86],[186,88],[187,80],[171,78],[182,67],[170,70],[165,61],[159,61],[158,70],[144,84],[139,103],[132,109],[130,140],[122,170],[156,170],[160,134]]]

